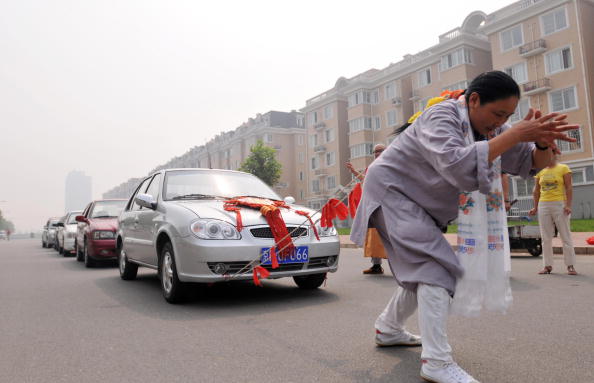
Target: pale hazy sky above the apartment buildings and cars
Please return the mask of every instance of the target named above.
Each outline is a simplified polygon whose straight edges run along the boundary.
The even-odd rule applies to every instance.
[[[0,0],[0,209],[18,230],[509,0]]]

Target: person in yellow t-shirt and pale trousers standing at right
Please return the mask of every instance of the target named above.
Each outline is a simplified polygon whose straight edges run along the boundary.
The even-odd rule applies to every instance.
[[[563,241],[563,258],[567,266],[567,274],[577,275],[573,267],[575,251],[569,229],[573,197],[571,170],[567,165],[558,163],[555,157],[551,166],[542,169],[534,178],[536,178],[533,193],[535,207],[529,214],[538,213],[544,263],[544,268],[539,271],[539,274],[550,274],[553,271],[552,244],[556,226]]]

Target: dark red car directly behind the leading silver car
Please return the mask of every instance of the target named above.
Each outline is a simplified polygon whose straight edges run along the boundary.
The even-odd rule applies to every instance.
[[[126,205],[125,199],[97,200],[89,203],[75,220],[76,260],[93,267],[98,261],[117,259],[115,235],[118,215]]]

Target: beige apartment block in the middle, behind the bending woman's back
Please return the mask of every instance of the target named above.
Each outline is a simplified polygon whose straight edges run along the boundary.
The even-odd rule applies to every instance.
[[[479,30],[485,18],[474,12],[461,27],[439,36],[435,46],[382,70],[341,77],[332,89],[307,100],[301,111],[310,137],[306,198],[310,207],[319,208],[340,185],[351,181],[347,161],[365,171],[373,160],[373,147],[388,145],[394,129],[431,97],[464,88],[491,69],[490,44]]]

